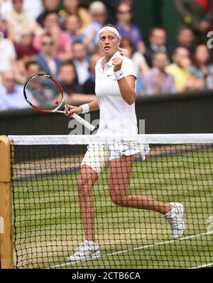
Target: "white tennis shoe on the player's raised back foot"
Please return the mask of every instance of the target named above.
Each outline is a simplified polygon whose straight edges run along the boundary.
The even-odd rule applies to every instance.
[[[170,203],[170,205],[173,205],[173,208],[166,213],[165,219],[170,223],[173,239],[178,240],[185,230],[185,224],[182,220],[183,205],[182,203]]]

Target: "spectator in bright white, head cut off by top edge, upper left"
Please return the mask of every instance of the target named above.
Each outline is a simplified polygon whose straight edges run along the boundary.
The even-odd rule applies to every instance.
[[[35,20],[38,15],[43,12],[43,10],[44,6],[42,0],[23,0],[23,11],[29,18],[33,18]]]

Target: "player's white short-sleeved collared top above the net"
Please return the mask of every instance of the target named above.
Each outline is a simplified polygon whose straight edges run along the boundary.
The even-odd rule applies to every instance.
[[[135,103],[129,105],[121,96],[119,84],[114,77],[112,59],[121,57],[121,70],[124,77],[136,77],[136,67],[133,62],[117,51],[103,69],[104,58],[97,61],[95,68],[95,93],[99,103],[99,135],[136,135],[138,134]],[[137,77],[136,77],[137,78]]]

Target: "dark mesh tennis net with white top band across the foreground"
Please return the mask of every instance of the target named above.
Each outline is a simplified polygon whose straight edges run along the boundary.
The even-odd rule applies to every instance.
[[[9,139],[16,268],[213,265],[213,134],[153,134],[133,139],[97,136]],[[88,144],[93,168],[103,169],[100,162],[103,150],[111,158],[92,188],[95,242],[99,243],[101,257],[69,261],[67,257],[75,254],[85,240],[77,189],[81,183],[77,180]],[[121,151],[138,154],[132,161],[123,155],[124,161],[118,164]],[[126,183],[128,174],[131,177]],[[84,176],[87,185],[89,178],[89,174]],[[88,188],[83,193],[87,195]],[[138,203],[127,198],[141,194],[163,203],[182,203],[185,231],[179,240],[174,240],[163,214],[140,209],[139,197]],[[89,205],[85,197],[84,206]]]

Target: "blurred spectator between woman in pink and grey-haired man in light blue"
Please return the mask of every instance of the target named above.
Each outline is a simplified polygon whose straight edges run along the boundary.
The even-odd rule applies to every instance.
[[[82,22],[80,16],[71,15],[68,16],[65,22],[65,30],[70,36],[70,42],[75,43],[75,41],[83,41],[84,35],[80,32]]]

